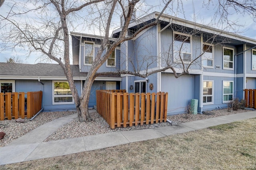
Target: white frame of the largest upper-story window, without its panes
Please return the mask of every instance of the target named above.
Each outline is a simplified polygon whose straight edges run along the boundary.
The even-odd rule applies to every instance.
[[[182,60],[183,60],[183,53],[186,53],[186,54],[190,54],[190,61],[183,61],[183,63],[186,63],[186,64],[189,64],[192,62],[192,35],[189,35],[189,34],[184,34],[184,33],[181,33],[181,32],[173,32],[172,34],[172,39],[173,39],[173,43],[172,43],[172,48],[173,48],[173,62],[174,63],[181,63],[180,59],[175,59],[174,57],[174,53],[179,53],[179,51],[174,51],[174,41],[175,41],[175,34],[179,34],[179,35],[182,35],[182,36],[188,36],[190,37],[190,52],[187,52],[187,51],[181,51],[182,53]]]

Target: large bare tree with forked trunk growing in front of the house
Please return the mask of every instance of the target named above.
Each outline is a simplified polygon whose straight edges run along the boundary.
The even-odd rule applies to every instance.
[[[82,3],[80,1],[69,2],[65,0],[42,0],[36,2],[35,8],[33,9],[26,8],[25,4],[17,4],[14,2],[11,6],[11,11],[7,16],[0,15],[2,21],[6,22],[6,27],[11,24],[10,34],[6,35],[4,40],[12,41],[12,47],[17,45],[28,45],[30,51],[40,51],[42,54],[44,54],[44,56],[58,62],[62,67],[70,85],[70,89],[76,104],[79,121],[90,121],[91,118],[88,112],[88,102],[92,83],[97,76],[108,74],[130,74],[140,77],[147,77],[148,75],[160,71],[172,69],[175,77],[180,77],[181,75],[187,74],[190,66],[193,63],[198,62],[198,59],[204,54],[204,52],[200,53],[200,55],[193,58],[193,60],[187,64],[184,63],[184,58],[182,58],[180,55],[181,51],[178,51],[178,55],[176,55],[176,57],[180,59],[179,65],[180,68],[182,68],[182,73],[176,73],[175,67],[177,67],[177,65],[172,61],[173,56],[170,55],[171,53],[166,53],[164,64],[159,69],[148,71],[150,65],[157,58],[151,56],[152,59],[150,62],[146,63],[144,68],[146,71],[143,73],[140,72],[142,70],[141,67],[135,67],[135,63],[133,71],[124,69],[98,73],[97,71],[100,66],[105,63],[112,51],[114,51],[118,45],[120,45],[122,42],[132,40],[142,31],[151,28],[152,26],[156,26],[160,22],[160,17],[163,15],[164,11],[172,0],[167,0],[165,2],[164,7],[156,20],[150,23],[141,24],[136,30],[130,32],[129,24],[133,16],[135,6],[139,2],[140,0],[90,0],[86,3]],[[23,8],[21,8],[21,6],[23,6]],[[114,25],[113,15],[118,13],[118,10],[121,11],[122,16],[124,17],[122,31],[116,40],[110,40],[110,29]],[[83,12],[83,15],[81,15],[81,12]],[[31,15],[31,13],[34,15],[33,17],[36,17],[35,22],[29,20],[29,15]],[[15,20],[16,16],[25,16],[25,19]],[[104,36],[98,53],[92,62],[92,66],[88,70],[82,94],[79,96],[72,76],[72,71],[70,69],[69,31],[71,28],[74,29],[74,21],[80,21],[80,24],[83,26],[95,26],[86,22],[86,20],[90,20],[90,17],[92,16],[96,16],[91,18],[91,20],[98,21],[98,27]],[[2,28],[5,28],[5,26]],[[186,34],[196,35],[200,34],[200,32],[186,32]],[[214,42],[213,44],[219,44],[226,41],[222,39],[221,42],[218,42],[214,37],[218,36],[212,36],[206,39],[206,41]],[[180,49],[188,38],[189,36],[180,38],[180,40],[182,40]],[[170,45],[170,47],[172,47],[172,45]],[[106,53],[103,53],[104,50],[106,50]],[[63,57],[64,61],[61,61],[60,57]],[[146,60],[148,59],[145,56],[144,62],[146,62]]]

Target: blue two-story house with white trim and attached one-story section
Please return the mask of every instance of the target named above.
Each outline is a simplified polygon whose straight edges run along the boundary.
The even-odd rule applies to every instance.
[[[136,31],[158,15],[154,12],[131,22],[129,31]],[[177,73],[189,66],[189,74],[175,78],[174,71],[167,69],[146,78],[128,74],[97,77],[89,107],[96,105],[98,89],[126,89],[129,93],[168,92],[169,115],[184,113],[191,99],[198,100],[198,112],[202,112],[225,108],[234,97],[243,98],[244,89],[256,89],[256,40],[168,15],[160,20],[158,25],[116,47],[98,72],[121,69],[146,73],[171,65]],[[116,40],[121,31],[114,30],[110,41]],[[72,70],[81,93],[102,37],[76,32],[70,35]],[[58,64],[0,63],[1,92],[7,86],[16,92],[42,90],[44,111],[75,109],[66,82]],[[153,89],[149,88],[150,83]],[[61,90],[66,93],[60,93]]]

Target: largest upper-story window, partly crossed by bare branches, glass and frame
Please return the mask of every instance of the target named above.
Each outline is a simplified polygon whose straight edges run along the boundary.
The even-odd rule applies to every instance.
[[[174,62],[184,61],[190,63],[192,61],[192,36],[174,32],[173,34],[173,56]]]

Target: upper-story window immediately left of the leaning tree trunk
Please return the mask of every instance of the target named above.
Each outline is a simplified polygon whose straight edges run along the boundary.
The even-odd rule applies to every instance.
[[[84,42],[84,65],[92,65],[94,60],[94,43]]]

